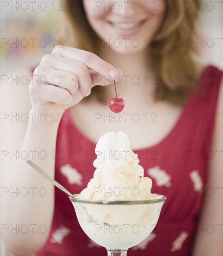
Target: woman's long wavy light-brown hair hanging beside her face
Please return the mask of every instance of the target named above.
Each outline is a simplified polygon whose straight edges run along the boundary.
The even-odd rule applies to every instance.
[[[194,60],[197,49],[195,44],[188,47],[187,42],[196,35],[198,1],[166,0],[162,24],[153,35],[155,40],[151,40],[148,51],[153,73],[157,77],[155,100],[183,105],[194,88],[188,77],[198,73]],[[62,23],[62,29],[65,44],[95,53],[94,40],[98,35],[86,18],[82,0],[64,0],[64,3],[66,21]],[[96,95],[99,101],[104,102],[105,95],[101,88],[92,88],[92,94],[85,99]]]

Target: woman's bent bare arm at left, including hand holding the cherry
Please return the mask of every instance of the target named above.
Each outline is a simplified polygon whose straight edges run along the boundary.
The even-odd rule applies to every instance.
[[[61,115],[54,121],[51,115],[55,113],[57,117],[79,103],[91,93],[98,78],[97,85],[108,85],[111,82],[103,78],[113,81],[118,79],[118,74],[122,76],[121,71],[95,54],[58,46],[51,54],[43,56],[29,87],[17,84],[20,79],[1,86],[1,95],[4,95],[1,102],[3,113],[13,116],[17,113],[37,114],[34,121],[30,115],[28,122],[20,118],[13,119],[13,122],[8,118],[2,122],[1,147],[8,153],[4,156],[1,172],[1,186],[4,189],[1,195],[2,238],[7,249],[14,254],[30,255],[44,245],[51,229],[54,198],[52,184],[26,163],[26,156],[24,159],[24,155],[19,153],[11,157],[10,150],[13,153],[24,150],[30,160],[54,177],[55,160],[51,152],[55,150]],[[22,75],[23,72],[19,78]],[[42,76],[46,78],[44,82],[40,79]],[[61,76],[62,83],[59,79]],[[52,77],[56,79],[52,80]],[[41,113],[47,116],[46,122],[39,121]],[[44,160],[38,154],[41,150],[46,152]],[[32,155],[31,152],[35,153]],[[46,196],[40,195],[40,188],[44,188]],[[24,196],[26,191],[28,194]],[[39,229],[41,227],[45,228],[44,231]]]

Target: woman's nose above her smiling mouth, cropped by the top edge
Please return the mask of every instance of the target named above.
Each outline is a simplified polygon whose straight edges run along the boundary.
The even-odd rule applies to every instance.
[[[140,1],[135,0],[113,0],[112,11],[119,14],[122,17],[129,18],[134,17],[134,15],[140,10]]]

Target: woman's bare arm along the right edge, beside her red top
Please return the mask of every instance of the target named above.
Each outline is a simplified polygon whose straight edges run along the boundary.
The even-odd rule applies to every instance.
[[[219,90],[216,112],[223,113],[223,83]],[[198,227],[204,226],[204,234],[202,234],[202,230],[198,229],[193,256],[223,255],[223,116],[221,115],[220,122],[217,121],[217,118],[215,122],[212,141],[215,157],[210,160],[206,185],[206,188],[213,188],[215,193],[213,196],[207,196],[207,193],[204,193],[203,209],[198,223]],[[213,234],[211,234],[212,232]]]

